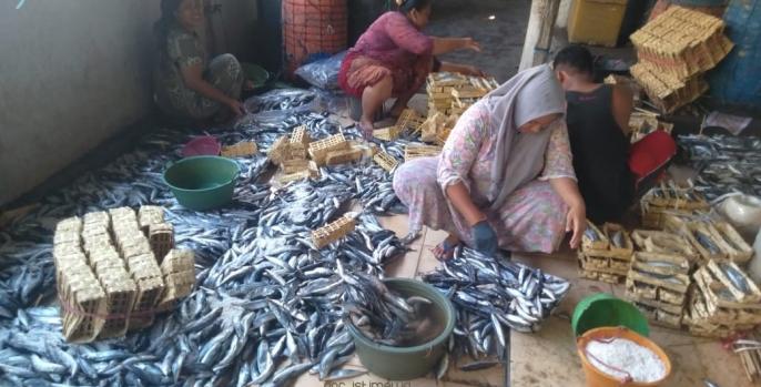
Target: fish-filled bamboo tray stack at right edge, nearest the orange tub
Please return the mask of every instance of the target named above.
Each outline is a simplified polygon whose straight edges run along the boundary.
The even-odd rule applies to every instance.
[[[692,277],[690,333],[726,338],[761,324],[761,291],[735,263],[709,261]]]

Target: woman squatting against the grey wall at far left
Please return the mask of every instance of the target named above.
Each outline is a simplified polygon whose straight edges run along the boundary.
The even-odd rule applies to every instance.
[[[161,1],[161,19],[154,27],[159,53],[153,83],[156,103],[171,118],[244,113],[239,100],[244,81],[241,64],[232,54],[209,62],[195,32],[203,20],[197,0]]]

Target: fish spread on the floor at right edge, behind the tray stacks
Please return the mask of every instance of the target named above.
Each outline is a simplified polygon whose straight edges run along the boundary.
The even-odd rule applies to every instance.
[[[679,146],[698,171],[696,191],[709,201],[732,193],[761,195],[761,140],[730,135],[680,135]]]

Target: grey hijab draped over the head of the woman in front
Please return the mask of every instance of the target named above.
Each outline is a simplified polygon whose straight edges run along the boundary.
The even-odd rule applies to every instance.
[[[550,132],[520,133],[518,128],[550,114],[565,114],[566,95],[548,64],[524,70],[486,95],[484,103],[497,122],[491,184],[491,210],[503,206],[518,187],[536,179],[545,164]]]

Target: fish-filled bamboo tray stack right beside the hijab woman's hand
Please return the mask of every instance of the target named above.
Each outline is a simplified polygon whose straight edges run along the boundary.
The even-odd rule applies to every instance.
[[[626,278],[631,264],[633,244],[623,226],[606,223],[602,230],[591,222],[581,238],[578,253],[580,275],[612,284]]]

